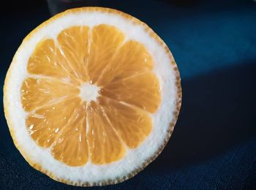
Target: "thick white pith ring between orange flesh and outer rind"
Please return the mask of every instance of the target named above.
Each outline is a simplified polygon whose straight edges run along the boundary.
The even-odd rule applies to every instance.
[[[127,150],[124,159],[119,161],[95,165],[90,161],[81,167],[69,167],[61,163],[51,156],[49,148],[41,148],[31,138],[26,129],[25,118],[28,113],[23,110],[20,102],[20,87],[23,80],[28,77],[26,64],[33,53],[37,43],[42,39],[56,39],[59,32],[70,26],[97,26],[105,23],[111,26],[116,26],[127,37],[127,39],[135,39],[142,43],[151,53],[154,60],[154,72],[159,78],[161,86],[162,100],[156,113],[152,114],[153,126],[151,134],[136,148]],[[9,125],[15,135],[15,140],[22,153],[26,153],[30,160],[41,165],[44,170],[48,170],[56,178],[62,178],[76,183],[89,182],[97,183],[108,179],[122,178],[133,170],[140,167],[146,159],[154,155],[159,147],[165,141],[165,137],[169,131],[170,121],[173,120],[173,111],[176,108],[176,74],[173,66],[170,64],[172,60],[167,55],[164,47],[159,45],[156,39],[151,37],[145,30],[144,26],[133,23],[132,20],[116,15],[110,12],[76,12],[69,13],[64,17],[60,17],[48,23],[45,27],[39,29],[37,33],[26,42],[23,42],[23,47],[15,54],[15,59],[12,61],[12,69],[10,70],[10,80],[5,84],[6,94],[4,102],[8,102],[10,115]],[[88,86],[87,86],[88,87]],[[91,88],[91,87],[90,87]],[[83,89],[83,88],[80,88]],[[82,90],[83,91],[83,90]],[[85,95],[81,91],[80,95]],[[94,98],[86,94],[83,97]]]

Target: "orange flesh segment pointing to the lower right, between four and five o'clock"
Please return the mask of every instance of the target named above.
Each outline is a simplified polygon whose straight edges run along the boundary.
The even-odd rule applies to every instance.
[[[111,125],[129,148],[136,148],[151,132],[151,118],[143,110],[129,107],[112,99],[99,97],[99,105]]]

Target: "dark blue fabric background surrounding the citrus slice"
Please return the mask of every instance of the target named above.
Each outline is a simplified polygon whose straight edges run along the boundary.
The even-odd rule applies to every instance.
[[[22,39],[50,18],[46,2],[35,3],[1,12],[1,87]],[[256,3],[94,3],[134,15],[165,40],[181,72],[183,103],[156,161],[124,183],[92,189],[256,189]],[[75,189],[30,167],[13,145],[3,108],[0,114],[0,189]]]

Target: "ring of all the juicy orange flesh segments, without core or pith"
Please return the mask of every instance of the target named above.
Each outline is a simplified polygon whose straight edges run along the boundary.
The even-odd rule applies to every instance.
[[[151,132],[161,101],[153,68],[146,48],[113,26],[72,26],[42,40],[21,88],[29,134],[69,166],[122,159]],[[83,83],[99,86],[97,100],[80,98]]]

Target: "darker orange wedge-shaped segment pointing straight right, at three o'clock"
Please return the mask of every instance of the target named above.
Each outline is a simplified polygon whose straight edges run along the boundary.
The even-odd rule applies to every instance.
[[[110,83],[102,88],[100,94],[135,105],[150,113],[157,110],[161,99],[159,81],[153,72],[144,72]]]

